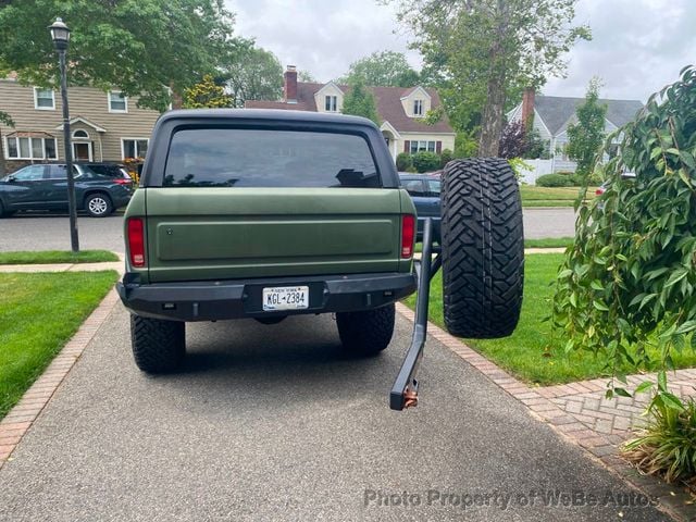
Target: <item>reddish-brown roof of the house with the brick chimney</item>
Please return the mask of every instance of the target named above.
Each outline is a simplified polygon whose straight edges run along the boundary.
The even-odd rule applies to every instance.
[[[285,101],[262,101],[248,100],[245,103],[247,109],[285,109],[295,111],[316,112],[316,103],[314,95],[321,90],[326,84],[315,84],[309,82],[297,83],[297,103],[287,103]],[[350,91],[347,85],[336,85],[344,92]],[[434,125],[427,125],[422,119],[410,117],[403,111],[401,98],[410,95],[414,87],[368,87],[374,95],[377,113],[382,121],[389,122],[391,126],[399,133],[451,133],[452,127],[449,125],[447,115],[443,113],[443,117]],[[424,89],[431,97],[431,109],[442,105],[439,96],[435,89]]]

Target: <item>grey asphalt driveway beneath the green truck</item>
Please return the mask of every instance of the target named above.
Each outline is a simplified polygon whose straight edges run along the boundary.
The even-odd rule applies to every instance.
[[[127,324],[117,304],[0,470],[0,520],[669,520],[435,339],[421,405],[390,411],[401,318],[371,359],[330,316],[192,324],[160,377]]]

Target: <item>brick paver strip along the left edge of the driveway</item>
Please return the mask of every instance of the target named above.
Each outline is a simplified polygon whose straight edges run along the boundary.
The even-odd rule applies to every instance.
[[[12,451],[44,411],[116,302],[119,295],[115,288],[112,288],[44,373],[24,393],[20,402],[0,421],[0,470],[11,459]]]

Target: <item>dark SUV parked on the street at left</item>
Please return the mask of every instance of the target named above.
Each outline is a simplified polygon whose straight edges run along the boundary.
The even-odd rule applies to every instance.
[[[76,163],[73,169],[78,211],[103,217],[130,200],[133,179],[119,164]],[[27,165],[0,179],[0,216],[20,210],[65,209],[65,163]]]

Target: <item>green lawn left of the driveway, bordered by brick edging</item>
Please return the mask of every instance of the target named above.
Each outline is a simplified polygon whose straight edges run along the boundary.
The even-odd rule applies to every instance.
[[[114,271],[0,274],[0,419],[113,287]]]

